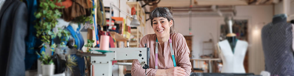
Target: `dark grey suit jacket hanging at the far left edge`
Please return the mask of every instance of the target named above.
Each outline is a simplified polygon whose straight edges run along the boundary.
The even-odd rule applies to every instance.
[[[6,0],[0,10],[0,74],[25,76],[28,10],[19,0]]]

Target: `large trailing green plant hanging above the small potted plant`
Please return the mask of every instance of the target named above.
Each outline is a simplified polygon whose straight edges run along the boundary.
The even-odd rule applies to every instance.
[[[61,3],[61,0],[39,0],[39,8],[34,13],[36,20],[36,25],[34,28],[36,28],[36,37],[40,38],[44,44],[50,44],[50,39],[55,38],[56,36],[61,39],[62,36],[67,37],[69,36],[69,32],[63,29],[58,28],[57,32],[54,32],[52,29],[55,28],[57,25],[57,20],[59,19],[62,13],[58,9],[64,8],[64,6],[56,6],[55,3],[59,2]],[[65,39],[61,39],[65,40]],[[61,45],[64,45],[62,42]],[[47,48],[46,46],[44,46]],[[54,48],[56,47],[56,44],[51,44],[51,51],[55,51]]]

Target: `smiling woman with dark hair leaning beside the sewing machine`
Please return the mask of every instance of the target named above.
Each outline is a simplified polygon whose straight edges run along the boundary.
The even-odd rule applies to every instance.
[[[150,13],[155,34],[147,34],[139,47],[150,48],[149,68],[144,70],[138,60],[131,68],[132,76],[189,76],[191,73],[190,51],[182,34],[174,33],[173,13],[166,7],[157,7]]]

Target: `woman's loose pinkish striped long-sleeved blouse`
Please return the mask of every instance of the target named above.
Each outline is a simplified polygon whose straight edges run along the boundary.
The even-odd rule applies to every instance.
[[[156,34],[147,34],[140,42],[139,47],[150,47],[150,62],[149,69],[147,69],[147,76],[155,76],[157,69],[155,68],[155,47],[156,47]],[[173,50],[175,53],[176,65],[185,69],[186,76],[191,73],[191,62],[189,58],[189,48],[186,43],[186,39],[182,34],[172,33],[171,40]],[[173,60],[171,57],[171,49],[169,42],[164,42],[164,50],[161,49],[161,45],[158,45],[158,69],[168,69],[173,66]],[[131,68],[132,76],[145,76],[145,69],[142,68],[138,60],[134,60]]]

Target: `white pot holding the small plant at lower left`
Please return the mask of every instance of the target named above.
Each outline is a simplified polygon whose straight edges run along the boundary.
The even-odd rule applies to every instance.
[[[43,76],[51,76],[54,75],[55,65],[41,65],[42,66],[42,75]]]

